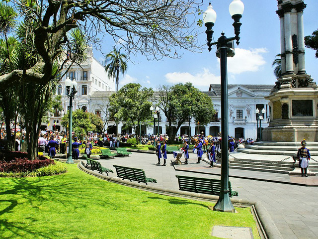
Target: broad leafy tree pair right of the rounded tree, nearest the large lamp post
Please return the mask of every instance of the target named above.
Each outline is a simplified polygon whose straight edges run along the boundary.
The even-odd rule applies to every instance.
[[[174,86],[159,86],[159,107],[168,121],[167,134],[174,138],[177,131],[188,119],[194,117],[200,125],[208,124],[215,114],[210,97],[191,83]],[[175,126],[175,127],[172,127]]]

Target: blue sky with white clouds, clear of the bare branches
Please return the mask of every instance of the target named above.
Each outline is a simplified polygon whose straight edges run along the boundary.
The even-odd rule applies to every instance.
[[[232,0],[212,0],[217,19],[213,27],[214,39],[224,31],[227,37],[234,36],[233,19],[229,13]],[[240,22],[240,44],[236,45],[236,55],[228,57],[228,84],[274,85],[272,62],[280,53],[280,20],[276,14],[277,0],[242,0],[244,12]],[[318,29],[318,0],[305,0],[304,10],[305,36]],[[201,8],[205,11],[209,0],[204,0]],[[201,15],[202,16],[202,15]],[[206,27],[199,31],[198,40],[206,42]],[[108,45],[103,52],[110,52]],[[173,85],[191,82],[201,91],[208,91],[210,84],[220,84],[220,61],[216,57],[216,48],[211,52],[205,45],[201,53],[184,51],[181,59],[164,58],[160,61],[148,61],[144,56],[131,57],[128,70],[119,78],[119,87],[127,83],[139,83],[154,90],[159,85]],[[108,50],[108,51],[107,51]],[[315,50],[306,48],[306,71],[318,82],[318,59]],[[102,62],[104,56],[94,50],[94,57]]]

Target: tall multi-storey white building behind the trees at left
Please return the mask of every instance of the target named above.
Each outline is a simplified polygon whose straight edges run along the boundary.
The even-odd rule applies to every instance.
[[[91,96],[94,92],[110,92],[115,90],[115,81],[109,79],[105,67],[98,62],[93,56],[93,49],[87,48],[87,59],[80,66],[74,64],[60,80],[60,84],[57,87],[56,95],[62,96],[62,112],[55,112],[50,118],[50,124],[42,125],[43,128],[47,127],[49,130],[64,130],[61,126],[62,117],[67,114],[70,105],[70,99],[66,95],[65,80],[69,77],[71,80],[75,80],[78,83],[78,93],[75,95],[73,101],[73,110],[82,109],[96,113],[94,109],[91,109]],[[69,68],[66,64],[64,72]]]

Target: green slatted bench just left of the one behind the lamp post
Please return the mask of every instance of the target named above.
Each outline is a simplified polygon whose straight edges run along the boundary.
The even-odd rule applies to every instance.
[[[124,166],[113,165],[116,168],[117,176],[119,178],[129,179],[137,181],[138,183],[157,183],[157,180],[154,178],[147,178],[145,171],[139,168],[129,168]],[[148,184],[147,184],[148,185]]]

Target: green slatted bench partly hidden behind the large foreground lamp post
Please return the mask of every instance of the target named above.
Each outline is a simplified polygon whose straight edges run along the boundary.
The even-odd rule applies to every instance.
[[[176,175],[179,182],[179,190],[204,193],[212,195],[220,195],[221,180],[209,178],[194,178],[188,176]],[[232,191],[231,182],[229,181],[229,196],[239,196],[239,193]]]

